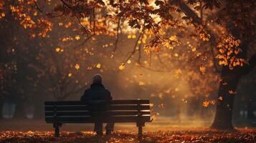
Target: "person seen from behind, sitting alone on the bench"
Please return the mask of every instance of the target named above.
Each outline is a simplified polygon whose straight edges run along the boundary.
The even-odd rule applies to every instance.
[[[88,102],[93,100],[104,100],[106,102],[112,100],[111,93],[108,89],[103,86],[103,77],[100,74],[95,74],[93,77],[93,84],[90,85],[89,89],[85,90],[85,93],[81,97],[82,102]],[[110,135],[114,129],[114,123],[107,123],[105,126],[106,135]],[[103,123],[95,122],[94,132],[98,136],[103,135]]]

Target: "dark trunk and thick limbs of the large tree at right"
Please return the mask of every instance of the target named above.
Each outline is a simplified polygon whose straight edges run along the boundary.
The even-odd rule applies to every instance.
[[[186,14],[189,18],[193,19],[193,23],[196,26],[196,24],[202,24],[202,19],[197,16],[197,14],[189,7],[187,6],[184,1],[177,1],[177,4],[179,4],[179,7],[181,11]],[[214,34],[211,30],[209,30],[206,27],[204,27],[207,31],[207,34],[210,34],[210,44],[213,47],[217,46],[217,42],[215,40]],[[232,33],[233,36],[237,37],[237,39],[241,39],[242,45],[242,54],[240,54],[241,58],[247,59],[247,49],[248,44],[250,44],[250,41],[254,40],[253,36],[247,37],[245,35],[241,36],[240,29],[237,29],[237,27],[228,27],[230,33]],[[247,40],[245,40],[247,39]],[[252,56],[252,58],[249,61],[249,64],[245,64],[242,67],[234,68],[233,70],[229,70],[228,67],[222,67],[222,73],[221,78],[222,82],[219,83],[219,95],[217,100],[217,110],[216,115],[214,117],[214,122],[212,124],[213,129],[233,129],[232,126],[232,109],[233,109],[233,102],[234,102],[234,96],[235,94],[230,94],[230,92],[236,92],[237,84],[239,82],[240,77],[242,75],[250,73],[252,71],[253,67],[256,65],[256,54]],[[229,92],[230,91],[230,92]]]

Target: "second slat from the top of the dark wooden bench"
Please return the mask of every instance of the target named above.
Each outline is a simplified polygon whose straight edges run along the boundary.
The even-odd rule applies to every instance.
[[[141,110],[150,109],[148,105],[140,105]],[[45,106],[45,111],[54,111],[54,106]],[[87,111],[87,110],[137,110],[137,105],[106,105],[106,106],[94,106],[89,107],[86,105],[81,106],[56,106],[57,111]]]

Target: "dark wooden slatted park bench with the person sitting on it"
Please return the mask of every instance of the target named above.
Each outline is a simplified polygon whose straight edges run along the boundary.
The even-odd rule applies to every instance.
[[[67,101],[44,102],[45,121],[53,124],[55,137],[60,137],[64,123],[135,122],[142,136],[145,122],[151,122],[149,100],[112,100],[110,102]]]

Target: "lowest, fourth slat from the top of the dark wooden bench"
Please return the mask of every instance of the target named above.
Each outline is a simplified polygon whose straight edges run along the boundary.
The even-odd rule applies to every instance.
[[[58,121],[62,123],[94,123],[94,122],[150,122],[150,115],[129,116],[129,117],[59,117]],[[54,122],[53,117],[45,117],[47,123]]]

